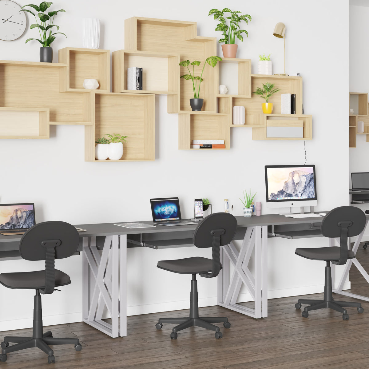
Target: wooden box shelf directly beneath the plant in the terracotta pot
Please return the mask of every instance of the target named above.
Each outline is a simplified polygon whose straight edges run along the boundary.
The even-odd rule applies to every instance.
[[[230,80],[235,80],[235,76],[229,76],[224,70],[227,64],[238,64],[238,94],[217,94],[218,97],[234,96],[234,97],[251,97],[251,59],[222,58],[219,65],[219,83],[218,85],[226,85]],[[231,77],[231,78],[230,78]],[[228,85],[229,87],[229,85]]]

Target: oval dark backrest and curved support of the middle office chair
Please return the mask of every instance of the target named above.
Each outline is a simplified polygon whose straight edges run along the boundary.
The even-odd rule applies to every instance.
[[[199,248],[213,248],[213,270],[211,273],[200,273],[201,277],[212,278],[220,270],[220,246],[229,244],[237,231],[237,220],[230,213],[214,213],[208,215],[196,227],[193,244]]]

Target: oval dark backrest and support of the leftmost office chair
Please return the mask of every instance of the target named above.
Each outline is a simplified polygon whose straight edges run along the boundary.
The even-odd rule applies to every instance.
[[[54,292],[55,259],[72,256],[79,245],[79,234],[73,225],[60,221],[38,223],[31,227],[20,240],[19,252],[26,260],[45,260],[45,289]]]

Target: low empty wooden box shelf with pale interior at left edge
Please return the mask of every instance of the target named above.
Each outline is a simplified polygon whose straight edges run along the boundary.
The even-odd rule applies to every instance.
[[[49,109],[0,108],[0,139],[49,138]]]

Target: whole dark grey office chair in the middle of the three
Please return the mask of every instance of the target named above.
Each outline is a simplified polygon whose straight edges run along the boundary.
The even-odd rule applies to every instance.
[[[199,256],[177,260],[162,260],[157,267],[173,273],[192,274],[190,294],[190,316],[188,318],[160,318],[156,329],[161,329],[163,323],[179,323],[170,334],[171,339],[177,339],[177,332],[189,327],[202,327],[215,331],[215,338],[222,338],[219,327],[211,323],[222,323],[230,328],[228,318],[199,317],[199,301],[197,298],[196,274],[201,277],[213,278],[222,269],[220,263],[220,247],[229,244],[237,230],[237,220],[229,213],[214,213],[208,215],[196,227],[193,235],[193,244],[199,248],[213,249],[213,258],[207,259]]]

